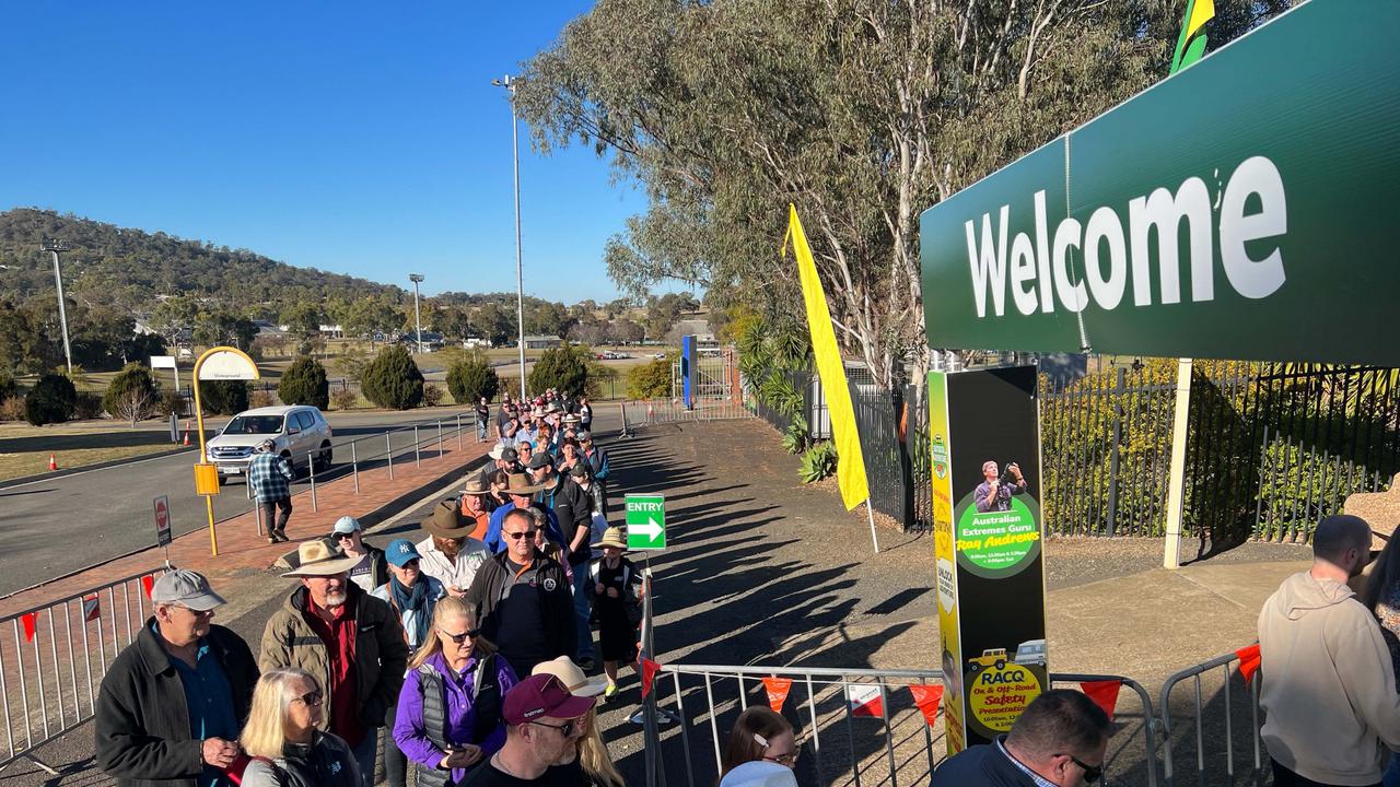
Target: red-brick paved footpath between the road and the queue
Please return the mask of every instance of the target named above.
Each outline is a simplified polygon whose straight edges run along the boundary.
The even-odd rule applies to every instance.
[[[365,527],[382,520],[391,507],[412,506],[430,489],[434,489],[454,476],[461,476],[475,462],[486,455],[487,444],[477,443],[475,434],[462,436],[462,448],[456,448],[456,440],[444,440],[441,454],[437,448],[424,451],[421,465],[410,461],[395,462],[393,478],[389,478],[386,466],[360,471],[360,493],[356,494],[354,478],[344,476],[329,483],[316,485],[316,511],[311,510],[311,492],[302,490],[293,496],[293,514],[287,525],[287,543],[267,543],[265,536],[258,535],[258,511],[232,517],[218,522],[218,556],[210,555],[209,528],[175,538],[169,546],[169,562],[181,569],[195,569],[218,587],[221,580],[263,573],[284,555],[288,548],[295,549],[297,542],[316,538],[330,532],[335,521],[346,514],[357,517]],[[193,473],[190,475],[193,483]],[[153,496],[158,490],[153,490]],[[232,489],[225,487],[224,493]],[[238,490],[241,493],[241,490]],[[74,529],[55,536],[55,548],[62,548],[62,542],[69,538],[81,538],[81,511],[74,513]],[[132,527],[148,528],[151,538],[155,536],[155,527],[150,521],[133,522]],[[20,591],[0,601],[0,618],[14,615],[24,609],[41,606],[63,598],[73,597],[88,588],[129,577],[140,571],[151,570],[165,560],[165,555],[158,546],[127,555],[116,560],[78,571],[62,580],[48,583],[35,588]]]

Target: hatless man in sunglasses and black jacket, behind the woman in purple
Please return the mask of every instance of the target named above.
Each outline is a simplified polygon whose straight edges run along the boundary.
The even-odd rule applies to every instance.
[[[487,560],[466,591],[482,636],[517,675],[560,655],[577,658],[571,585],[564,567],[536,546],[538,534],[529,510],[507,513],[500,534],[505,552]]]

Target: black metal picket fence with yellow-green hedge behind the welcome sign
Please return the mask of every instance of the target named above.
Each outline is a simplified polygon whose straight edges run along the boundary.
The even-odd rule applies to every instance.
[[[1063,385],[1042,378],[1051,532],[1162,535],[1176,370],[1159,358]],[[875,510],[909,531],[931,528],[923,391],[853,381],[851,402]],[[1389,489],[1400,471],[1400,370],[1197,361],[1187,440],[1183,527],[1203,549],[1306,541],[1347,496]]]

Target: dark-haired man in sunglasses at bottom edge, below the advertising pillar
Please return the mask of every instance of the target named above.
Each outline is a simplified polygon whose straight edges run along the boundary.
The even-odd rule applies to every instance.
[[[1051,689],[1021,711],[1011,732],[944,760],[930,787],[1081,787],[1103,776],[1109,716],[1088,696]]]

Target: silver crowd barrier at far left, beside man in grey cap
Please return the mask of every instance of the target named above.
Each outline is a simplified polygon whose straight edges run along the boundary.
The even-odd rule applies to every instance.
[[[98,688],[116,654],[154,612],[147,595],[169,566],[0,618],[0,769],[92,718]],[[8,637],[4,636],[8,629]]]

